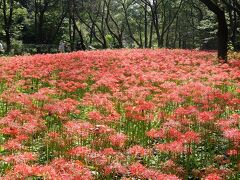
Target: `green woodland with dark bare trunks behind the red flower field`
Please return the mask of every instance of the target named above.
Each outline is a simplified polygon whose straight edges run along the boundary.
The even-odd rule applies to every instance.
[[[240,49],[237,0],[0,0],[6,53],[94,48]]]

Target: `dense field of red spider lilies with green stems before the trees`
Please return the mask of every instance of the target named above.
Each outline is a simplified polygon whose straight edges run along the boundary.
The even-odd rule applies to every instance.
[[[240,179],[240,60],[167,49],[2,58],[0,179]]]

